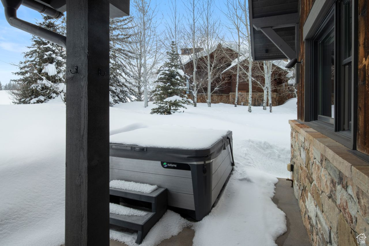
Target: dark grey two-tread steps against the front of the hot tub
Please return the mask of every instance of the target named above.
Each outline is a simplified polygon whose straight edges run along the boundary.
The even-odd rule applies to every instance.
[[[110,224],[137,230],[136,243],[140,244],[145,238],[152,226],[163,216],[167,208],[167,189],[158,188],[151,193],[142,193],[137,191],[128,191],[124,189],[110,188],[110,202],[119,204],[120,198],[123,200],[128,198],[130,201],[142,202],[144,207],[137,207],[146,211],[144,216],[118,215],[110,213]]]

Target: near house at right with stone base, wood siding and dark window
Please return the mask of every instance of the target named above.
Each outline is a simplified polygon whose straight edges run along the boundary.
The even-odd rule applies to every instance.
[[[357,245],[369,234],[368,0],[249,0],[249,16],[254,61],[296,67],[291,178],[311,244]]]

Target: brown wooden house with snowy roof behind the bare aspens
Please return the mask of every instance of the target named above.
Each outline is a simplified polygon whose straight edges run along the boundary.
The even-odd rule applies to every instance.
[[[211,102],[212,103],[230,103],[235,102],[236,93],[236,76],[237,76],[237,48],[232,44],[218,44],[210,54],[211,74],[214,77],[211,86]],[[241,49],[242,50],[242,49]],[[246,53],[246,52],[245,52]],[[197,73],[196,81],[200,90],[197,93],[197,102],[206,103],[207,98],[207,56],[203,48],[197,48],[196,57]],[[180,59],[184,67],[184,72],[192,83],[193,62],[192,49],[182,48]],[[238,105],[248,105],[249,85],[248,76],[248,60],[245,55],[240,56],[240,76],[238,85]],[[292,72],[290,69],[284,68],[284,61],[274,61],[272,65],[272,104],[273,106],[283,104],[287,99],[295,97],[295,90],[291,81]],[[252,105],[262,106],[263,104],[263,85],[264,85],[264,69],[262,62],[253,62],[252,65]],[[189,94],[189,98],[193,100],[193,95]],[[269,102],[268,102],[269,104]]]

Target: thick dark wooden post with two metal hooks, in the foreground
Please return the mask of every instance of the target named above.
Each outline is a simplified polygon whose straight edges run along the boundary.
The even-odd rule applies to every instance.
[[[109,1],[66,4],[65,245],[104,246],[109,245]]]

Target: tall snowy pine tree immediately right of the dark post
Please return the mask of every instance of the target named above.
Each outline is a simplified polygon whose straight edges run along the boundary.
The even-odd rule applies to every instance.
[[[127,47],[133,34],[133,17],[110,19],[110,106],[137,98],[127,65],[133,54]]]

